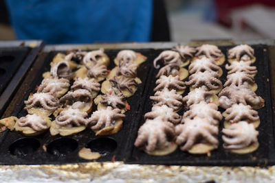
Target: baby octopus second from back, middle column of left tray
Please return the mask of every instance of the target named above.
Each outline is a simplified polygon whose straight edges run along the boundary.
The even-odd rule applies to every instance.
[[[87,76],[88,77],[94,77],[94,78],[98,78],[98,77],[105,77],[108,75],[108,70],[107,70],[107,66],[105,66],[104,64],[100,64],[98,62],[91,62],[91,64],[89,65],[85,65],[87,71]]]

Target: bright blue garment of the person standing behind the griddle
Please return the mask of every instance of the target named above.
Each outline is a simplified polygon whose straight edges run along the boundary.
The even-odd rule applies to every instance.
[[[5,0],[17,38],[48,44],[148,42],[152,0]]]

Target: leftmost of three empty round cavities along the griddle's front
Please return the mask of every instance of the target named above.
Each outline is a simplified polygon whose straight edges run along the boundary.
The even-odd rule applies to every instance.
[[[28,156],[40,147],[39,140],[30,137],[20,138],[9,147],[10,154],[18,157]]]

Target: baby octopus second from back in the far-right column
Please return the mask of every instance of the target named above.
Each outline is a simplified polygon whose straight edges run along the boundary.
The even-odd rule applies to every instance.
[[[256,66],[250,66],[250,64],[251,64],[251,61],[248,61],[248,62],[234,61],[230,66],[226,64],[225,69],[229,70],[228,75],[236,72],[243,72],[249,75],[255,75],[256,73],[258,73],[258,71],[256,70]]]

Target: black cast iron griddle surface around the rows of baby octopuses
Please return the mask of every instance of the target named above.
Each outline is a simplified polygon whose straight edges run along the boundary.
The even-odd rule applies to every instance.
[[[65,164],[72,162],[87,162],[78,157],[78,151],[83,147],[91,148],[92,151],[98,151],[102,157],[97,161],[124,161],[126,163],[137,164],[180,164],[180,165],[265,165],[275,164],[275,147],[272,121],[272,103],[270,96],[269,79],[269,58],[267,46],[254,45],[256,62],[259,73],[255,80],[259,88],[256,91],[265,99],[265,108],[259,111],[261,125],[258,130],[260,147],[252,154],[235,155],[226,152],[222,147],[221,133],[219,133],[220,145],[217,150],[211,152],[211,156],[192,155],[177,149],[173,154],[168,156],[149,156],[133,146],[137,136],[137,130],[144,123],[144,114],[151,110],[152,103],[149,96],[153,95],[155,87],[155,75],[157,69],[153,68],[153,60],[156,58],[162,49],[139,49],[135,50],[142,53],[148,59],[142,64],[137,75],[142,80],[142,84],[138,86],[137,92],[133,97],[128,99],[131,110],[126,112],[124,119],[124,127],[118,134],[111,136],[95,136],[94,132],[86,129],[74,136],[50,136],[50,132],[45,132],[40,136],[25,137],[19,132],[10,132],[6,130],[0,137],[0,164]],[[230,47],[219,47],[223,53]],[[105,52],[111,60],[115,58],[119,50],[106,50]],[[19,107],[14,110],[13,115],[22,117],[27,114],[23,110],[25,99],[28,99],[30,93],[36,92],[36,86],[41,84],[43,80],[42,73],[50,70],[50,62],[58,51],[50,52],[45,58],[45,62],[41,65],[39,75],[30,82],[30,90],[25,92],[24,98],[19,104]],[[109,69],[112,69],[114,64],[111,62]],[[225,82],[227,75],[225,64],[223,68],[222,82]],[[188,90],[184,95],[188,93]],[[96,106],[94,106],[96,110]],[[93,110],[93,111],[94,111]],[[221,112],[223,110],[219,109]],[[184,110],[179,112],[184,113]],[[90,112],[91,114],[91,112]],[[223,121],[219,126],[221,132]]]

